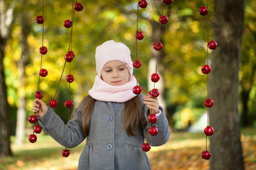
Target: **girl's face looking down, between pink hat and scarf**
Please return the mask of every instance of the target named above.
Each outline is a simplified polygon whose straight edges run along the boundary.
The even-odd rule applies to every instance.
[[[102,80],[112,86],[121,86],[129,81],[129,69],[120,61],[107,62],[102,69]]]

